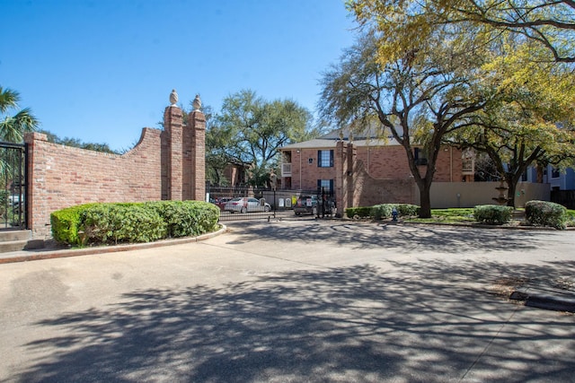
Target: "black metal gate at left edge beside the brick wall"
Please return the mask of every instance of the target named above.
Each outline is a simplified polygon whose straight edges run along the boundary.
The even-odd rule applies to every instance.
[[[0,142],[0,230],[26,229],[26,144]]]

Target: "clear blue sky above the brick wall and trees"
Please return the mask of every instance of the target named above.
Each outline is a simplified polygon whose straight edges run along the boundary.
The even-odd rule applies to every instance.
[[[217,111],[251,89],[314,112],[353,43],[343,0],[0,0],[0,85],[41,129],[126,150],[175,88]]]

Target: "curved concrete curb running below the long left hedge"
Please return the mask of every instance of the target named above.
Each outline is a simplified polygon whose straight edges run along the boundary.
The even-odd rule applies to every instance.
[[[115,246],[100,246],[94,248],[61,248],[57,250],[34,250],[34,251],[14,251],[13,253],[4,253],[0,255],[0,264],[14,262],[35,261],[40,259],[53,259],[63,257],[91,256],[94,254],[108,254],[119,251],[142,250],[145,248],[164,248],[166,246],[182,245],[186,243],[198,242],[199,240],[209,239],[224,234],[227,231],[226,225],[219,223],[221,228],[218,231],[199,235],[198,237],[186,237],[179,239],[163,239],[155,242],[133,243]]]

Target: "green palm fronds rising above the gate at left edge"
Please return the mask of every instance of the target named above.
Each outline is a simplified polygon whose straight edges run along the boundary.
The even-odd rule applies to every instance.
[[[0,86],[0,140],[9,143],[22,143],[26,132],[34,131],[40,125],[31,109],[18,107],[20,93]],[[10,111],[16,110],[15,114]]]

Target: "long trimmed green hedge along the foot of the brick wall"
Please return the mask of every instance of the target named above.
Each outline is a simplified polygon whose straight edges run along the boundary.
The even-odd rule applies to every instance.
[[[70,245],[150,242],[217,229],[219,209],[201,201],[72,206],[50,216],[52,236]]]

